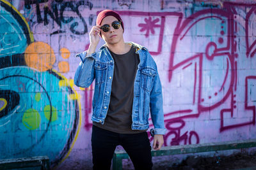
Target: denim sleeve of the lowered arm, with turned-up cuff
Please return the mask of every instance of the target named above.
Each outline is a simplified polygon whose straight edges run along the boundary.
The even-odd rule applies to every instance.
[[[153,134],[165,134],[162,86],[157,72],[150,92],[150,114],[154,125]]]

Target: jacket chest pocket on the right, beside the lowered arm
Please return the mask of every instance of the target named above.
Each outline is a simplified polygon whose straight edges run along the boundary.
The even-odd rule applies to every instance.
[[[156,71],[151,68],[141,69],[141,87],[150,92],[154,84]]]

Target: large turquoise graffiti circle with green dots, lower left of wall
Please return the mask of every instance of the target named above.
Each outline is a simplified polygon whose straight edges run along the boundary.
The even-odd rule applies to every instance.
[[[6,85],[0,90],[7,92],[12,89],[19,96],[19,105],[9,110],[8,117],[0,118],[0,143],[1,139],[8,138],[15,132],[15,138],[10,139],[10,143],[15,147],[10,148],[10,143],[1,143],[5,154],[0,154],[0,159],[8,159],[12,155],[35,156],[40,153],[49,157],[53,167],[64,159],[76,139],[79,124],[77,99],[70,99],[70,95],[76,92],[68,84],[60,86],[60,81],[64,80],[65,78],[54,71],[38,72],[26,66],[0,69],[0,84]],[[40,102],[36,101],[38,99]],[[45,117],[45,106],[47,106],[48,119],[55,120],[54,122]],[[57,110],[57,113],[61,110],[58,115],[61,118],[54,118],[52,113],[54,110]],[[26,112],[25,115],[24,112]],[[32,115],[32,112],[36,114]],[[40,114],[41,120],[39,127],[35,129],[38,126],[37,113]]]

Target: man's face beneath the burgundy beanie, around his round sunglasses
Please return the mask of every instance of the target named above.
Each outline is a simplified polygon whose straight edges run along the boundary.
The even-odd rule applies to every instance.
[[[104,41],[111,45],[115,45],[123,40],[124,30],[121,25],[118,29],[114,29],[113,26],[111,25],[114,21],[118,21],[118,19],[116,19],[113,16],[108,16],[108,17],[103,18],[103,20],[100,24],[100,26],[105,25],[105,24],[110,25],[108,32],[104,32],[102,30],[100,30],[100,32],[101,32],[101,36],[104,39]]]

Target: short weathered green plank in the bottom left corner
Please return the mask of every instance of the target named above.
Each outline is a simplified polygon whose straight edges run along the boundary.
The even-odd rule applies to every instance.
[[[25,157],[17,159],[3,159],[0,160],[0,169],[14,169],[23,167],[42,167],[42,169],[49,169],[49,157]]]

